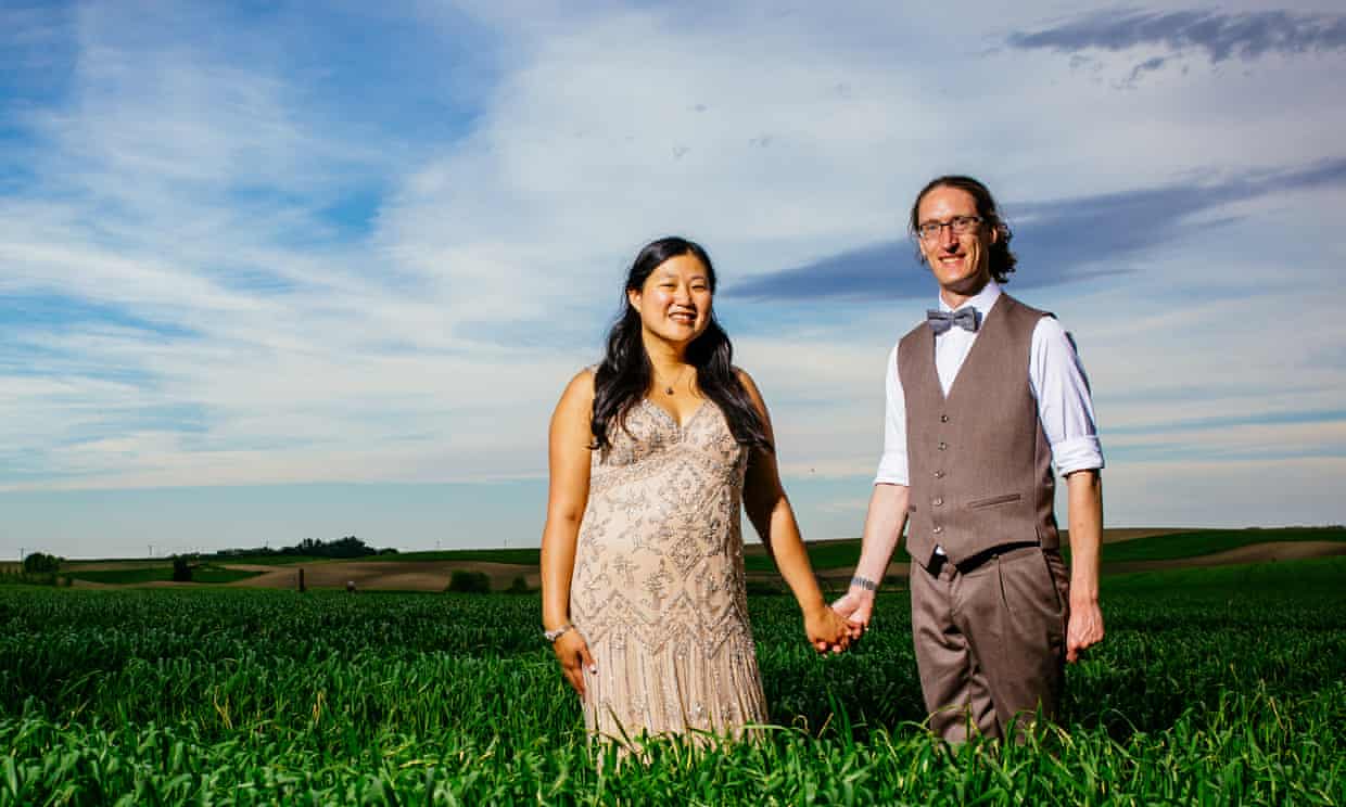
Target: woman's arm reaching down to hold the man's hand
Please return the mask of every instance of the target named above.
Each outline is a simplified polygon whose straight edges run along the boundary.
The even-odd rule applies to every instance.
[[[738,374],[743,389],[758,409],[767,440],[775,445],[771,416],[766,410],[762,393],[747,373],[739,370]],[[774,452],[754,449],[743,486],[743,507],[804,612],[804,627],[809,642],[820,652],[829,647],[845,650],[849,643],[845,620],[828,607],[822,590],[818,589],[818,581],[813,577],[813,566],[809,564],[804,538],[800,537],[794,508],[790,507],[785,488],[781,487]]]

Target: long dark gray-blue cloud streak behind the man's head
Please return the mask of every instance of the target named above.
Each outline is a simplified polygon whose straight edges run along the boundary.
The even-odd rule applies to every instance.
[[[1285,191],[1346,186],[1346,157],[1312,165],[1252,172],[1218,183],[1174,183],[1155,188],[1004,204],[1014,249],[1023,257],[1015,288],[1050,286],[1135,270],[1136,260],[1190,230],[1228,226],[1237,215],[1211,219],[1226,204]],[[755,276],[725,289],[748,300],[891,300],[930,295],[926,269],[911,241],[863,245],[801,266]]]

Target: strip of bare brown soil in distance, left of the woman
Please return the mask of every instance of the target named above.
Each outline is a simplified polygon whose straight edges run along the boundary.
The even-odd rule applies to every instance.
[[[223,564],[230,569],[260,570],[254,566]],[[455,570],[482,572],[491,578],[491,590],[509,588],[516,577],[522,577],[529,588],[541,585],[536,566],[491,564],[486,561],[345,561],[324,564],[295,564],[292,566],[265,566],[264,573],[248,580],[230,582],[234,588],[297,588],[299,569],[304,570],[308,588],[441,592],[448,586]]]

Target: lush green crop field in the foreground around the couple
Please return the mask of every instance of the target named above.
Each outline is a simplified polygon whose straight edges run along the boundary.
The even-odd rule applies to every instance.
[[[777,728],[619,763],[536,596],[0,589],[0,806],[1346,803],[1346,558],[1105,581],[1063,728],[950,749],[900,594],[817,658],[751,603]]]

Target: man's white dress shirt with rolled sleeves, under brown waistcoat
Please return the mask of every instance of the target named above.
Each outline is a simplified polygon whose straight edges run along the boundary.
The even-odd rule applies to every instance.
[[[960,305],[976,307],[984,317],[1000,299],[996,281],[987,282],[975,297]],[[940,299],[941,311],[950,309]],[[953,379],[958,377],[968,351],[977,340],[977,332],[965,331],[957,325],[934,338],[934,364],[940,375],[944,394],[949,394]],[[1070,336],[1057,317],[1044,316],[1032,330],[1032,344],[1028,352],[1028,386],[1038,399],[1038,418],[1042,430],[1051,445],[1051,461],[1061,475],[1089,468],[1102,468],[1102,449],[1098,445],[1098,429],[1094,421],[1093,401],[1089,397],[1089,382],[1079,364]],[[883,424],[883,457],[875,484],[909,484],[907,472],[907,399],[902,393],[902,377],[898,374],[898,346],[888,354],[887,405]]]

